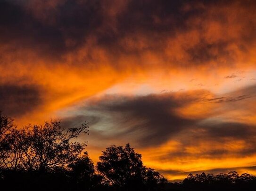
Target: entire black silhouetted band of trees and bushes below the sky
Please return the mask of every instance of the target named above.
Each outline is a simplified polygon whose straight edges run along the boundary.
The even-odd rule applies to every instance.
[[[0,185],[20,191],[254,191],[256,176],[228,174],[193,176],[168,183],[143,165],[130,144],[111,145],[94,166],[76,138],[88,123],[62,128],[60,121],[17,128],[0,113]]]

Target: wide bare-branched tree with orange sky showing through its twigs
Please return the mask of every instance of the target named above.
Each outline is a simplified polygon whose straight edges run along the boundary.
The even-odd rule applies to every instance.
[[[27,140],[24,166],[40,172],[63,168],[77,159],[85,147],[85,143],[72,142],[82,133],[88,133],[88,123],[79,128],[65,130],[60,121],[45,122],[43,126],[27,126],[22,130]]]

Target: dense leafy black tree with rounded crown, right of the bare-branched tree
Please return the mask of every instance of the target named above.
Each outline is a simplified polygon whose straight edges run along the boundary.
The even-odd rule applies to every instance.
[[[126,190],[151,189],[159,183],[165,183],[165,178],[151,168],[146,168],[141,160],[141,154],[135,153],[130,144],[124,148],[112,145],[103,151],[97,163],[97,170],[106,183],[113,187]]]

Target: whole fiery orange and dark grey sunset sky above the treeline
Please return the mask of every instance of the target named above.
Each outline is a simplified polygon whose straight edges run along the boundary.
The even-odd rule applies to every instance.
[[[256,2],[0,0],[0,110],[90,122],[170,181],[256,175]]]

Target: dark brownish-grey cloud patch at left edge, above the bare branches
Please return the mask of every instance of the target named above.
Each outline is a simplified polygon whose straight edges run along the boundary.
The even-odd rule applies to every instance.
[[[41,103],[40,93],[34,86],[0,85],[0,110],[5,115],[22,116]]]

